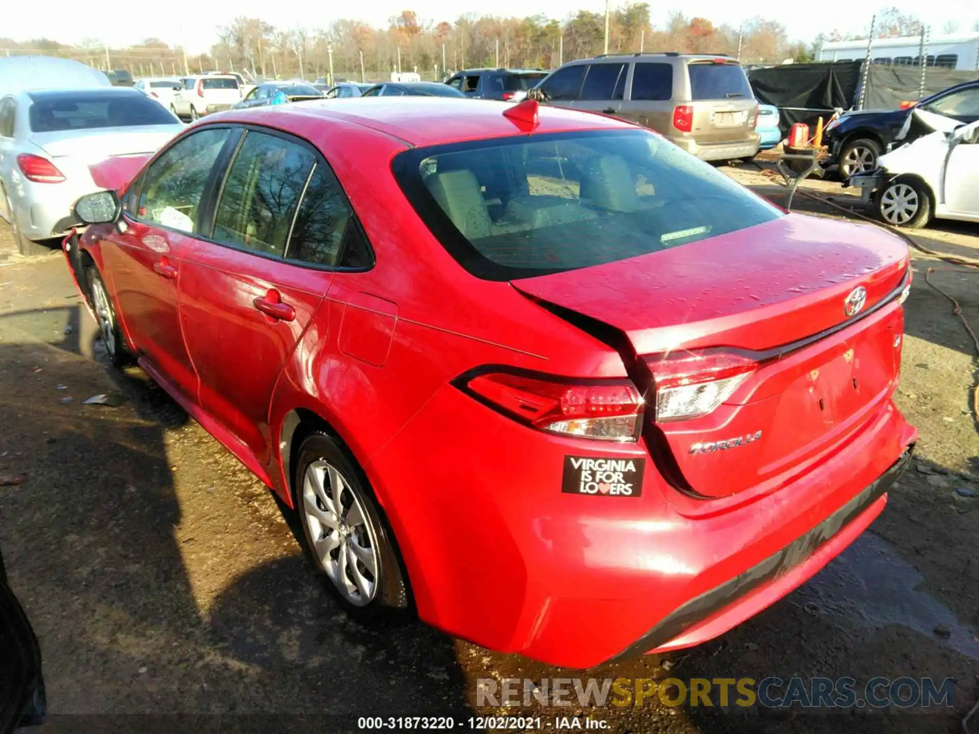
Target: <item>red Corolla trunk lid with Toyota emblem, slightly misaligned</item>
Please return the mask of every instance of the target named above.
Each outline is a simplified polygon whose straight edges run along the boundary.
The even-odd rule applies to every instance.
[[[665,442],[682,475],[671,478],[676,483],[726,496],[804,471],[889,397],[903,309],[875,306],[901,288],[908,266],[907,246],[884,230],[789,214],[514,286],[614,327],[647,364],[689,349],[761,352],[763,361],[720,407],[657,423],[646,436]],[[864,305],[848,316],[845,301],[859,287]],[[788,353],[776,348],[787,345]]]

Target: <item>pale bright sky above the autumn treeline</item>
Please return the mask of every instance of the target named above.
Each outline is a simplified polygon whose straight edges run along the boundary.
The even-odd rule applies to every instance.
[[[612,0],[613,7],[618,4]],[[146,36],[157,36],[171,46],[183,44],[187,51],[198,53],[210,49],[217,28],[233,16],[261,18],[288,28],[324,27],[340,18],[386,26],[388,19],[402,10],[415,11],[421,19],[454,21],[462,13],[497,17],[543,14],[562,20],[578,10],[604,12],[603,0],[493,0],[492,3],[471,0],[358,0],[356,3],[324,3],[310,0],[269,2],[269,0],[234,0],[205,3],[200,0],[168,0],[143,5],[134,12],[120,12],[132,6],[109,4],[105,12],[84,13],[85,4],[77,0],[41,0],[36,5],[21,0],[7,0],[0,36],[25,41],[47,37],[62,43],[80,43],[83,38],[102,38],[110,47],[138,43]],[[668,0],[650,2],[651,20],[663,26],[672,11],[687,17],[702,16],[712,23],[738,25],[755,16],[777,20],[788,30],[790,40],[811,41],[817,33],[834,28],[843,33],[866,32],[870,17],[882,7],[895,5],[902,12],[917,15],[941,33],[948,21],[958,23],[958,32],[971,32],[979,21],[979,3],[961,0],[894,2],[894,0],[821,0],[821,2],[782,2],[779,0]],[[923,6],[923,7],[922,7]],[[103,7],[103,6],[93,6]]]

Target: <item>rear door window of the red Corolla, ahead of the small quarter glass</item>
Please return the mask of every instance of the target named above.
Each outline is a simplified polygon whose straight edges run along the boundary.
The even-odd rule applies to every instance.
[[[213,238],[282,256],[316,159],[303,146],[249,131],[224,179]]]

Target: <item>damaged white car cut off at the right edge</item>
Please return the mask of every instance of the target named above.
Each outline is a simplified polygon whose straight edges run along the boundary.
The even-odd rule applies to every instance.
[[[863,201],[897,227],[923,227],[933,217],[979,221],[979,121],[963,125],[923,110],[913,115],[934,132],[881,156],[879,168],[848,184],[860,186]],[[899,140],[909,122],[910,116]]]

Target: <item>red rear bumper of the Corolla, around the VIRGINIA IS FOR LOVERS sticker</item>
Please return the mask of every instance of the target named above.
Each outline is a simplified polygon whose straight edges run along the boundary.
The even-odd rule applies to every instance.
[[[916,436],[884,398],[802,474],[696,500],[641,443],[536,433],[444,388],[365,470],[422,619],[581,668],[702,643],[784,596],[879,514]],[[641,495],[562,492],[567,456],[644,461]]]

